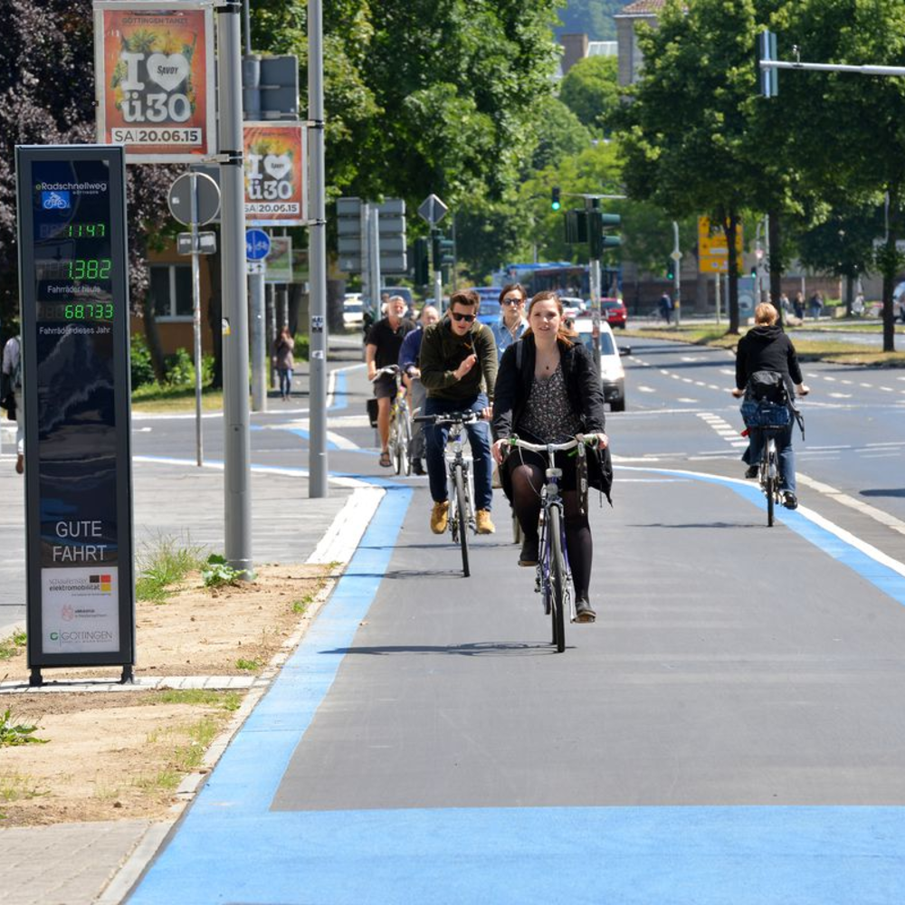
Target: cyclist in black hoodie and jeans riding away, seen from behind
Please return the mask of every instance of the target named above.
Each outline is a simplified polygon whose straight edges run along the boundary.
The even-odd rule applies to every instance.
[[[783,332],[782,326],[776,323],[778,318],[778,312],[768,301],[761,302],[754,310],[755,326],[738,340],[736,388],[732,395],[745,395],[748,380],[757,371],[772,371],[781,375],[790,399],[795,394],[795,389],[798,395],[807,395],[809,392],[803,382],[801,367],[798,367],[795,346]],[[783,505],[789,510],[798,508],[798,498],[795,496],[795,450],[792,448],[794,426],[794,420],[790,420],[785,428],[775,434],[780,471],[779,492],[783,497]],[[742,456],[742,461],[748,465],[745,477],[756,478],[757,463],[760,462],[766,438],[762,430],[751,427],[748,429],[748,439],[748,449]]]

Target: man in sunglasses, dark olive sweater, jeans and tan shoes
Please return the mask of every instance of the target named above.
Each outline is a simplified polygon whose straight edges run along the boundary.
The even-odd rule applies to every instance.
[[[452,293],[450,308],[440,323],[424,330],[421,342],[421,382],[427,389],[424,414],[478,412],[491,415],[497,379],[497,347],[491,329],[478,320],[481,300],[473,290]],[[475,525],[478,534],[492,534],[491,437],[486,421],[468,424],[474,458]],[[431,530],[443,534],[449,518],[446,463],[443,448],[448,424],[427,424],[427,475],[433,498]]]

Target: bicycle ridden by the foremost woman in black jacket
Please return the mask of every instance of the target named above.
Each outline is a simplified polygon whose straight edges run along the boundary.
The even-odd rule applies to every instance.
[[[547,483],[540,489],[540,543],[534,590],[543,595],[544,613],[553,623],[553,643],[557,645],[557,652],[563,653],[566,650],[566,611],[569,622],[576,621],[576,611],[575,587],[566,549],[565,512],[559,494],[559,479],[563,472],[557,468],[556,453],[577,450],[578,456],[584,458],[587,447],[596,445],[597,436],[578,434],[566,443],[527,443],[518,437],[510,437],[505,443],[510,448],[546,452],[548,456]]]

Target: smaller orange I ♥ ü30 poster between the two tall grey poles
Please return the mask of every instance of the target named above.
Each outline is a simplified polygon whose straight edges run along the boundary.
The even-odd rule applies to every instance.
[[[299,226],[308,221],[306,130],[299,122],[243,124],[245,222]]]

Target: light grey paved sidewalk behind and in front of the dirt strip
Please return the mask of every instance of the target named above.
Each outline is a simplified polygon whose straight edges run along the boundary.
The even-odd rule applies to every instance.
[[[4,453],[7,450],[4,445]],[[161,535],[187,535],[193,544],[222,552],[223,479],[222,470],[199,469],[194,462],[137,458],[133,463],[136,549]],[[373,512],[372,504],[376,505],[375,496],[380,495],[372,489],[357,491],[355,485],[355,481],[331,481],[329,497],[309,500],[308,480],[301,469],[252,470],[253,560],[265,563],[348,558],[344,556],[349,548],[348,535],[356,529],[360,534]],[[23,512],[18,502],[21,479],[14,474],[12,459],[6,454],[0,457],[0,493],[7,502],[0,507],[0,544],[6,553],[0,563],[0,633],[6,636],[14,624],[24,620]],[[367,500],[365,505],[361,504],[362,499]],[[287,506],[287,500],[298,500],[298,505]],[[327,548],[325,544],[331,546]],[[139,637],[139,646],[140,641]],[[260,700],[276,672],[271,669],[262,679],[252,682],[237,714],[238,725]],[[52,672],[47,677],[52,679]],[[142,681],[140,669],[136,678],[139,687],[150,687],[152,683],[149,679]],[[178,677],[171,679],[177,681]],[[107,691],[109,683],[95,687]],[[214,752],[216,756],[227,742],[228,738],[220,740],[221,751]],[[217,746],[218,742],[214,742],[214,748]],[[201,777],[190,776],[187,780],[179,789],[185,804],[194,796]],[[177,817],[175,813],[167,822],[132,820],[0,828],[0,872],[7,879],[2,899],[5,905],[118,903]],[[177,899],[178,892],[174,891],[174,900]]]

